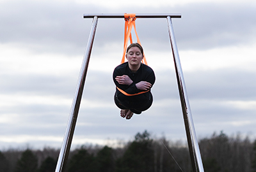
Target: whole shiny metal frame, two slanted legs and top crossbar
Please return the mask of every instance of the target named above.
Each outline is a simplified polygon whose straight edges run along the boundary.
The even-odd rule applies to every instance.
[[[55,172],[64,171],[65,166],[67,164],[68,154],[70,152],[70,146],[72,143],[72,138],[73,138],[74,130],[76,127],[76,120],[79,112],[79,106],[81,103],[81,97],[83,94],[83,88],[84,88],[84,82],[86,79],[88,64],[90,61],[90,55],[92,52],[93,40],[94,40],[96,28],[97,28],[98,18],[124,18],[124,14],[84,14],[84,18],[93,18],[92,28],[91,28],[90,36],[88,39],[86,52],[84,54],[83,64],[81,67],[79,80],[77,83],[76,94],[74,96],[72,107],[70,110],[68,124],[66,128],[65,136],[63,138],[63,143],[60,150],[60,155],[58,157],[58,162],[57,162]],[[197,172],[197,171],[204,172],[204,167],[202,164],[202,158],[200,155],[198,141],[196,139],[193,118],[192,118],[191,110],[189,106],[188,94],[186,92],[184,76],[183,76],[182,68],[180,65],[179,52],[176,45],[174,30],[172,25],[172,18],[181,18],[181,15],[180,14],[136,14],[136,18],[166,18],[167,19],[168,32],[169,32],[170,42],[171,42],[171,47],[173,52],[173,60],[175,63],[177,84],[179,87],[179,94],[180,94],[180,103],[182,106],[182,113],[184,118],[184,125],[186,129],[192,168],[193,168],[193,172]]]

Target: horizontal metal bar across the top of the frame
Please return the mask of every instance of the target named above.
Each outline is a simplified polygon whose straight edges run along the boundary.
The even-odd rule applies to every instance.
[[[124,18],[124,14],[84,14],[84,18]],[[181,14],[163,13],[163,14],[136,14],[136,18],[181,18]]]

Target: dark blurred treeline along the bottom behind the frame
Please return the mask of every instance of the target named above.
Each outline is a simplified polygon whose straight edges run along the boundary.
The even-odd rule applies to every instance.
[[[256,172],[256,140],[228,137],[221,132],[199,141],[206,172]],[[4,150],[0,152],[0,172],[55,171],[60,150]],[[152,139],[145,131],[123,148],[85,147],[72,150],[67,172],[191,172],[189,150],[182,143],[165,138]]]

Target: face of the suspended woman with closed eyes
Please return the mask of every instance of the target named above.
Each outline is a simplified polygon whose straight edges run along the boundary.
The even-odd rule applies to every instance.
[[[141,54],[140,48],[138,47],[130,48],[126,54],[126,59],[128,63],[132,66],[140,65],[143,59],[143,54]]]

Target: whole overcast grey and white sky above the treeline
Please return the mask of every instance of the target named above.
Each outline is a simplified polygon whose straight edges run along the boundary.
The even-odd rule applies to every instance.
[[[198,139],[212,133],[256,138],[255,1],[0,0],[0,149],[60,148],[90,33],[84,13],[181,13],[173,27]],[[186,141],[166,19],[136,20],[154,103],[120,117],[113,69],[124,20],[99,18],[72,147],[116,145],[147,129]],[[136,41],[136,36],[133,36]]]

